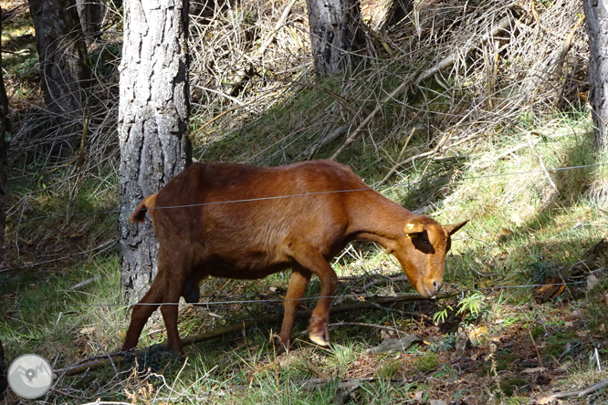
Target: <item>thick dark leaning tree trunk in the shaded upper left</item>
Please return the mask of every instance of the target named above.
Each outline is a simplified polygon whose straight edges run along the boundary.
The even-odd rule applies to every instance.
[[[29,0],[47,109],[66,124],[87,104],[90,69],[75,0]],[[73,117],[72,117],[73,119]]]

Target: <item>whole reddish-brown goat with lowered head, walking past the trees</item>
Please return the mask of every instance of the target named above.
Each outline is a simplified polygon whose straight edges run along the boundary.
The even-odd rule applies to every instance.
[[[158,274],[131,314],[122,346],[134,348],[160,303],[198,301],[207,275],[257,279],[292,269],[280,339],[288,348],[299,302],[311,275],[321,291],[309,338],[327,345],[331,296],[338,277],[330,260],[354,240],[394,254],[415,289],[439,291],[450,235],[465,223],[440,225],[370,189],[348,166],[306,161],[276,168],[194,163],[158,194],[146,197],[131,222],[152,217],[159,241]],[[169,346],[182,352],[177,306],[162,305]]]

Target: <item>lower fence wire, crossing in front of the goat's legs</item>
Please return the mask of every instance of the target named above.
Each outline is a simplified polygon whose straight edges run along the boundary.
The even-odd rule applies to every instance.
[[[469,292],[474,292],[474,291],[489,291],[489,292],[494,292],[494,291],[498,291],[498,290],[505,290],[505,289],[510,289],[510,288],[538,288],[538,287],[542,287],[542,286],[579,286],[582,284],[587,284],[586,280],[583,281],[573,281],[573,282],[564,282],[564,283],[553,283],[553,284],[533,284],[533,285],[521,285],[521,286],[491,286],[491,287],[480,287],[480,288],[469,288],[469,289],[464,289],[464,290],[456,290],[456,291],[446,291],[445,293],[440,293],[436,296],[433,296],[430,298],[430,300],[433,300],[433,298],[440,298],[442,296],[464,296],[466,293]],[[302,297],[299,299],[294,299],[293,301],[314,301],[314,300],[318,300],[320,298],[374,298],[374,297],[378,297],[378,296],[384,296],[384,295],[379,295],[379,294],[374,294],[374,293],[362,293],[362,294],[348,294],[348,295],[337,295],[337,296],[307,296],[307,297]],[[414,294],[411,293],[393,293],[389,296],[415,296]],[[175,302],[164,302],[164,303],[131,303],[131,304],[121,304],[121,303],[115,303],[115,304],[82,304],[82,303],[62,303],[62,304],[22,304],[22,303],[2,303],[0,302],[0,307],[2,306],[13,306],[13,307],[41,307],[41,308],[45,308],[45,307],[69,307],[69,306],[78,306],[78,307],[97,307],[97,306],[101,306],[101,307],[111,307],[111,306],[117,306],[117,307],[128,307],[128,306],[135,306],[135,305],[139,305],[139,306],[233,306],[235,304],[264,304],[264,303],[284,303],[286,301],[291,301],[288,299],[284,299],[284,298],[273,298],[273,299],[241,299],[241,300],[230,300],[230,301],[212,301],[212,302],[199,302],[199,303],[192,303],[192,304],[184,304],[184,303],[175,303]]]

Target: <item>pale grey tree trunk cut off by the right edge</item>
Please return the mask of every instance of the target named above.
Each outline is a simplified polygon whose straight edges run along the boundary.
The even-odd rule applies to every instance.
[[[589,36],[589,102],[595,133],[595,146],[608,146],[608,0],[583,0],[587,35]]]

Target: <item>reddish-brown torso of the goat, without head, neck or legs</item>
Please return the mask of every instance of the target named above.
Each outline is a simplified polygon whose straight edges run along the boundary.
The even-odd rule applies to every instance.
[[[173,249],[230,258],[236,267],[256,260],[264,266],[287,260],[285,244],[294,240],[336,254],[347,237],[347,191],[366,188],[335,161],[194,163],[157,194],[151,215],[161,244],[179,241]]]

